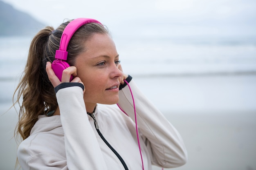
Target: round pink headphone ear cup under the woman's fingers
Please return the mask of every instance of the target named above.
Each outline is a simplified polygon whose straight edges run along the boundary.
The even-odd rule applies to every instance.
[[[70,67],[70,65],[63,61],[63,60],[54,60],[52,62],[52,70],[54,71],[55,75],[58,77],[58,79],[61,81],[63,70],[65,70],[67,67]],[[70,82],[73,79],[73,76],[70,76]]]

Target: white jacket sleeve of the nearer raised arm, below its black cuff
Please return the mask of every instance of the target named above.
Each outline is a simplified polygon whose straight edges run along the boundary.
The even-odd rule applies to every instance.
[[[56,97],[65,134],[67,168],[106,170],[106,163],[86,113],[82,88],[61,88]]]

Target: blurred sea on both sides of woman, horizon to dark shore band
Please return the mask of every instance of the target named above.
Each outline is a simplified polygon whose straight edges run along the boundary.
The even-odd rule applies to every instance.
[[[0,79],[24,68],[31,37],[0,38]],[[256,38],[115,38],[121,64],[136,76],[256,73]]]

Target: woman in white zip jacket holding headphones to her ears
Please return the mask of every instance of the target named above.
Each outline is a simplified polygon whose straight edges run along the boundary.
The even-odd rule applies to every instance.
[[[67,46],[70,66],[61,77],[56,76],[52,62],[69,23],[56,30],[47,26],[31,42],[16,89],[17,102],[23,97],[17,125],[23,138],[18,147],[21,168],[151,170],[152,165],[182,166],[187,157],[182,138],[132,77],[122,72],[105,26],[96,20],[79,26]]]

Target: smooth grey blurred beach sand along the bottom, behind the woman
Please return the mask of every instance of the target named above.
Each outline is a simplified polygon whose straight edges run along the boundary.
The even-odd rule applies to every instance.
[[[188,151],[188,162],[174,170],[256,170],[255,112],[176,112],[165,116],[180,132]],[[16,119],[13,109],[0,118],[1,170],[14,170]],[[154,166],[153,170],[161,168]]]

